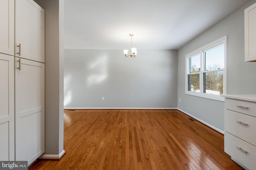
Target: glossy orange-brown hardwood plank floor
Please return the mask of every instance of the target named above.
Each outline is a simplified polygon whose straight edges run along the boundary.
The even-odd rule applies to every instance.
[[[240,170],[224,136],[178,110],[64,111],[61,160],[32,170]]]

